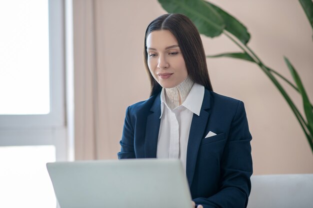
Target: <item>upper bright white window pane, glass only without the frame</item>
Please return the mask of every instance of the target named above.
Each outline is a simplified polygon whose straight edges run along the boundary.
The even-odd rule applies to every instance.
[[[2,2],[0,25],[0,114],[48,114],[47,0]]]

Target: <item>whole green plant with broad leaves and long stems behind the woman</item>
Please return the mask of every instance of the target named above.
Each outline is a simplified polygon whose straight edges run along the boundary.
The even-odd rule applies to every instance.
[[[232,57],[253,62],[259,66],[259,68],[266,74],[266,76],[272,81],[272,83],[279,90],[287,104],[291,108],[297,121],[299,122],[305,137],[310,145],[313,153],[313,106],[310,103],[305,89],[302,85],[301,79],[292,66],[290,61],[284,57],[284,61],[293,77],[295,85],[292,84],[283,75],[267,67],[260,58],[250,49],[247,45],[250,34],[246,27],[239,22],[236,18],[217,7],[216,5],[204,1],[204,0],[158,0],[162,7],[168,13],[182,13],[188,16],[198,28],[201,34],[208,37],[216,37],[220,34],[226,35],[232,40],[242,52],[222,53],[217,55],[209,55],[207,57]],[[299,0],[305,14],[313,29],[313,3],[311,0]],[[289,84],[294,90],[296,90],[302,97],[302,103],[304,108],[304,116],[299,112],[298,108],[294,105],[291,98],[288,96],[284,88],[280,85],[275,76]]]

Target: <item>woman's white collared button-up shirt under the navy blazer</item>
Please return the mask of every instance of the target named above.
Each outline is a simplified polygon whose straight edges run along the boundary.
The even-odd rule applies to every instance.
[[[158,131],[156,158],[180,159],[186,171],[186,156],[189,131],[193,114],[200,115],[204,87],[194,83],[185,101],[171,110],[161,91],[161,116]]]

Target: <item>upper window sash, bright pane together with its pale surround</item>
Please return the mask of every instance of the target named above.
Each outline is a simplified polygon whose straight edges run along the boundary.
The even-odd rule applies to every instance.
[[[0,49],[0,56],[5,59],[0,61],[0,81],[3,81],[0,84],[0,128],[64,125],[62,0],[51,0],[49,5],[48,0],[0,3],[1,10],[8,10],[1,14],[8,16],[1,16],[0,20],[6,22],[3,25],[7,26],[2,28],[5,32],[0,33],[0,46],[4,46]],[[14,11],[15,7],[18,8],[17,12]],[[16,20],[11,16],[18,18]],[[9,23],[11,18],[13,22]],[[45,19],[45,22],[33,20],[38,18]],[[19,22],[20,19],[27,20]],[[19,31],[18,25],[21,26]],[[44,37],[40,39],[32,33]],[[15,36],[24,37],[18,42]],[[23,52],[20,52],[20,48],[23,48]]]

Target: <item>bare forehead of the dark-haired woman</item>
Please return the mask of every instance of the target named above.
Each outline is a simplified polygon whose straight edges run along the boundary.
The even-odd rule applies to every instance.
[[[171,45],[178,45],[178,43],[169,30],[154,30],[146,38],[147,48],[163,49]]]

